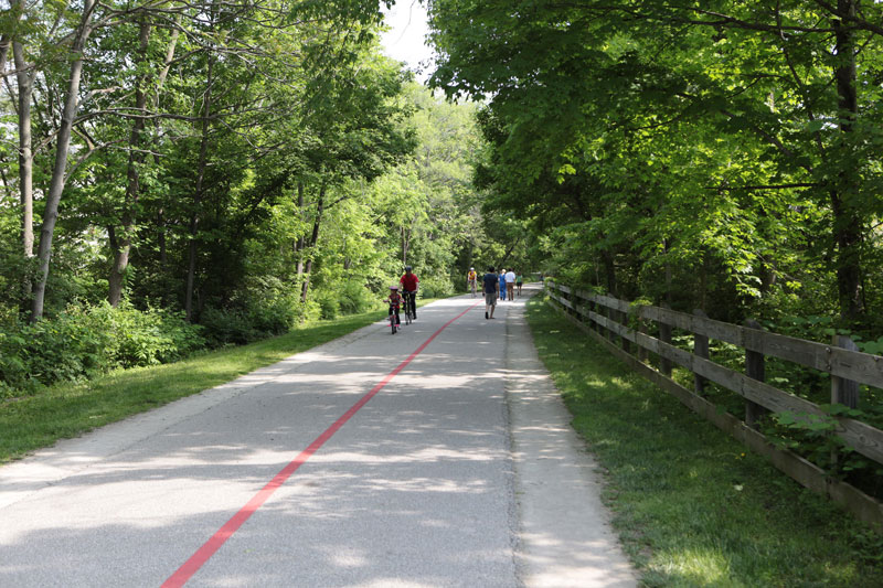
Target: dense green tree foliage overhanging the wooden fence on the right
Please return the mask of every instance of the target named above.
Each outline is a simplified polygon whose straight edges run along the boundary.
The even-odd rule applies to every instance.
[[[695,10],[432,2],[432,84],[487,97],[486,212],[523,221],[574,286],[732,322],[839,314],[876,339],[883,9]]]

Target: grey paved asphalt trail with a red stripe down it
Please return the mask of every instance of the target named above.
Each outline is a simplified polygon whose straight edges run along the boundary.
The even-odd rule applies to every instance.
[[[439,301],[0,468],[0,587],[635,586],[522,314]]]

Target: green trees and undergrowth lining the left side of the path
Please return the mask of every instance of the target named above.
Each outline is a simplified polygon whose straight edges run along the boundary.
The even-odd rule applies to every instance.
[[[3,17],[38,81],[38,238],[78,10],[38,0]],[[0,97],[2,394],[360,313],[405,264],[446,296],[479,260],[524,257],[524,227],[486,223],[470,183],[476,106],[445,103],[382,55],[377,6],[258,0],[173,10],[174,22],[139,3],[95,10],[33,325],[25,120],[15,84]]]

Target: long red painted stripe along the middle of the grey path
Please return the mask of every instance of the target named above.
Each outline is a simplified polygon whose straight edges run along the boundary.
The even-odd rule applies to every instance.
[[[416,357],[417,355],[419,355],[419,354],[423,352],[423,350],[425,350],[425,349],[426,349],[426,346],[427,346],[429,343],[432,343],[432,342],[433,342],[433,340],[434,340],[436,336],[438,336],[438,335],[442,333],[442,331],[444,331],[445,329],[447,329],[447,328],[448,328],[448,327],[449,327],[449,325],[450,325],[450,324],[451,324],[454,321],[456,321],[457,319],[459,319],[460,317],[462,317],[464,314],[466,314],[467,312],[469,312],[470,310],[472,310],[474,308],[476,308],[478,304],[479,304],[479,302],[476,302],[476,303],[474,303],[471,307],[467,308],[466,310],[464,310],[462,312],[460,312],[459,314],[457,314],[456,317],[454,317],[453,319],[450,319],[448,322],[446,322],[446,323],[445,323],[445,324],[444,324],[444,325],[443,325],[440,329],[438,329],[438,330],[437,330],[435,333],[433,333],[433,334],[429,336],[429,339],[427,339],[427,340],[426,340],[426,341],[425,341],[425,342],[424,342],[424,343],[423,343],[421,346],[418,346],[418,348],[417,348],[417,349],[414,351],[414,353],[412,353],[411,355],[408,355],[408,356],[407,356],[407,359],[406,359],[405,361],[403,361],[402,363],[400,363],[400,364],[398,364],[398,366],[397,366],[395,370],[393,370],[392,372],[390,372],[389,374],[386,374],[386,376],[385,376],[383,379],[381,379],[381,381],[377,383],[377,385],[375,385],[373,388],[371,388],[371,391],[370,391],[368,394],[365,394],[364,396],[362,396],[362,397],[359,399],[359,402],[358,402],[358,403],[355,403],[355,404],[354,404],[354,405],[353,405],[353,406],[352,406],[352,407],[351,407],[349,410],[347,410],[347,411],[343,414],[343,416],[341,416],[339,419],[337,419],[337,420],[334,421],[334,424],[333,424],[333,425],[331,425],[330,427],[328,427],[328,428],[325,430],[325,432],[322,432],[322,434],[321,434],[319,437],[317,437],[317,438],[316,438],[316,440],[315,440],[315,441],[312,441],[312,442],[309,445],[309,447],[307,447],[307,449],[305,449],[304,451],[301,451],[301,452],[300,452],[300,455],[298,455],[298,456],[297,456],[297,457],[296,457],[294,460],[291,460],[291,461],[290,461],[290,462],[289,462],[289,463],[288,463],[288,464],[287,464],[285,468],[283,468],[283,469],[279,471],[279,473],[277,473],[277,474],[276,474],[276,475],[273,478],[273,480],[270,480],[270,481],[269,481],[269,482],[268,482],[268,483],[267,483],[267,484],[266,484],[264,488],[262,488],[262,489],[260,489],[260,490],[257,492],[257,494],[255,494],[254,496],[252,496],[252,500],[249,500],[249,501],[248,501],[248,502],[245,504],[245,506],[243,506],[242,509],[240,509],[240,512],[237,512],[236,514],[234,514],[234,515],[231,517],[231,520],[230,520],[230,521],[227,521],[226,523],[224,523],[224,526],[222,526],[220,530],[217,530],[217,532],[216,532],[214,535],[212,535],[212,536],[211,536],[211,538],[210,538],[209,541],[206,541],[206,542],[205,542],[205,543],[202,545],[202,547],[200,547],[199,549],[196,549],[196,552],[195,552],[195,553],[194,553],[192,556],[190,556],[190,559],[188,559],[187,562],[184,562],[184,564],[183,564],[183,565],[182,565],[180,568],[178,568],[178,570],[175,570],[175,573],[174,573],[174,574],[172,574],[172,575],[169,577],[169,579],[167,579],[167,580],[166,580],[166,581],[162,584],[162,588],[178,588],[178,587],[180,587],[180,586],[183,586],[184,584],[187,584],[187,581],[188,581],[188,580],[189,580],[189,579],[190,579],[190,578],[191,578],[191,577],[192,577],[192,576],[193,576],[193,575],[194,575],[196,571],[199,571],[199,570],[200,570],[200,568],[202,568],[202,566],[203,566],[203,565],[205,565],[205,563],[206,563],[209,559],[211,559],[211,557],[212,557],[212,556],[215,554],[215,552],[217,552],[217,549],[220,549],[220,548],[221,548],[221,546],[222,546],[222,545],[224,545],[224,543],[226,543],[226,541],[227,541],[230,537],[232,537],[232,536],[233,536],[233,534],[234,534],[236,531],[238,531],[238,528],[240,528],[240,527],[241,527],[243,524],[245,524],[245,522],[246,522],[246,521],[247,521],[247,520],[248,520],[248,518],[249,518],[249,517],[251,517],[251,516],[252,516],[252,515],[253,515],[253,514],[254,514],[254,513],[255,513],[255,512],[256,512],[256,511],[257,511],[257,510],[258,510],[258,509],[259,509],[259,507],[260,507],[260,506],[262,506],[262,505],[265,503],[265,502],[267,502],[267,500],[269,500],[269,498],[273,495],[273,493],[274,493],[274,492],[276,492],[276,490],[278,490],[278,489],[279,489],[279,487],[281,487],[281,485],[283,485],[283,484],[286,482],[286,480],[288,480],[288,479],[291,477],[291,474],[292,474],[292,473],[295,473],[295,472],[297,471],[297,469],[298,469],[298,468],[300,468],[300,467],[301,467],[304,463],[306,463],[306,462],[307,462],[307,460],[309,460],[309,459],[310,459],[310,457],[312,457],[312,455],[313,455],[316,451],[318,451],[318,450],[319,450],[319,448],[321,448],[321,447],[322,447],[322,446],[326,443],[326,441],[328,441],[328,440],[329,440],[331,437],[333,437],[333,435],[334,435],[334,434],[336,434],[338,430],[340,430],[340,428],[341,428],[341,427],[343,427],[343,425],[345,425],[345,424],[347,424],[347,421],[348,421],[348,420],[350,420],[350,419],[353,417],[353,415],[355,415],[355,413],[358,413],[359,410],[361,410],[361,408],[362,408],[362,407],[363,407],[365,404],[368,404],[368,402],[369,402],[371,398],[373,398],[374,396],[376,396],[376,394],[377,394],[377,393],[379,393],[381,389],[383,389],[383,387],[384,387],[386,384],[389,384],[389,383],[390,383],[390,381],[391,381],[392,378],[394,378],[394,377],[395,377],[395,376],[398,374],[398,372],[401,372],[402,370],[404,370],[404,368],[407,366],[407,364],[409,364],[409,363],[411,363],[411,362],[414,360],[414,357]]]

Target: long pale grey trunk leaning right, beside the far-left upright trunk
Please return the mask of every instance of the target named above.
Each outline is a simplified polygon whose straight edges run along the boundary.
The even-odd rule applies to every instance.
[[[83,74],[83,49],[86,40],[92,32],[92,13],[95,10],[95,0],[85,0],[83,4],[83,17],[79,26],[74,35],[71,47],[71,55],[75,56],[71,63],[71,79],[67,87],[67,96],[64,99],[64,111],[55,145],[55,165],[52,169],[52,180],[50,181],[49,193],[46,194],[46,206],[43,213],[43,224],[40,228],[40,247],[36,256],[39,259],[39,271],[34,284],[34,297],[31,307],[31,321],[38,321],[43,317],[43,302],[46,296],[46,280],[49,279],[49,266],[52,257],[52,237],[55,232],[55,222],[58,220],[58,203],[64,191],[65,173],[67,171],[67,151],[71,147],[71,131],[74,126],[74,117],[79,106],[79,78]]]

